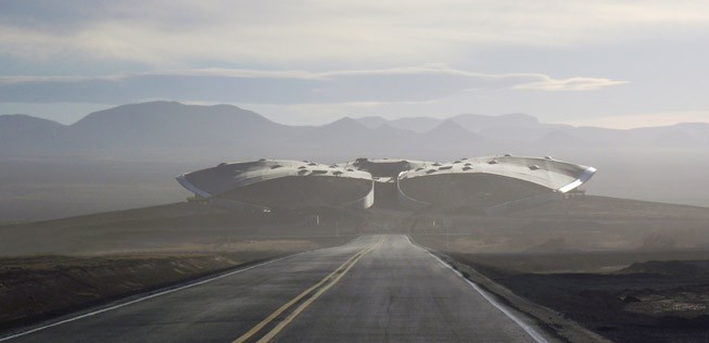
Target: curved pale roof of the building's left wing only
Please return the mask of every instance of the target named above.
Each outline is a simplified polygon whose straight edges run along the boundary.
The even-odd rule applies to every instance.
[[[369,173],[341,166],[328,166],[308,161],[258,160],[221,163],[216,167],[179,175],[177,181],[200,196],[212,198],[239,187],[293,176],[329,176],[371,180]]]

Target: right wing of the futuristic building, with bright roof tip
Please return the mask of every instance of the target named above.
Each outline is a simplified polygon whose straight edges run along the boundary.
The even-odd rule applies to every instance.
[[[402,172],[396,183],[404,207],[435,205],[490,212],[570,192],[595,173],[593,167],[552,157],[505,155],[427,164]]]

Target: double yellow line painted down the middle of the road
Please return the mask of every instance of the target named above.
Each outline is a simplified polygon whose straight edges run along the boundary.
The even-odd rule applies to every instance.
[[[252,339],[254,334],[258,333],[261,330],[264,329],[268,323],[274,321],[274,319],[278,318],[280,315],[282,315],[286,310],[288,310],[290,307],[292,307],[294,304],[303,301],[303,303],[297,306],[293,312],[291,312],[288,317],[286,317],[281,322],[279,322],[274,329],[271,329],[268,333],[266,333],[264,336],[262,336],[257,342],[269,342],[273,340],[276,334],[278,334],[283,328],[286,328],[297,315],[300,315],[307,306],[313,304],[322,293],[327,292],[330,288],[332,288],[335,283],[344,277],[354,265],[364,257],[368,252],[375,250],[381,242],[384,241],[383,237],[380,237],[379,240],[372,244],[371,246],[362,250],[354,254],[352,257],[350,257],[347,261],[345,261],[342,265],[340,265],[334,271],[330,272],[328,276],[322,278],[320,281],[315,283],[313,287],[309,289],[303,291],[303,293],[299,294],[297,296],[293,297],[290,302],[286,303],[283,306],[279,307],[270,314],[266,319],[262,320],[259,323],[251,328],[251,330],[246,331],[246,333],[242,334],[240,338],[236,339],[233,343],[243,343],[246,342],[248,340]],[[316,291],[317,290],[317,291]],[[313,293],[316,291],[315,293]],[[307,297],[309,295],[309,297]],[[307,298],[306,298],[307,297]]]

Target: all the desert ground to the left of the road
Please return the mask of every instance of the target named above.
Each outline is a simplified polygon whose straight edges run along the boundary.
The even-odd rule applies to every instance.
[[[359,214],[317,213],[176,203],[0,226],[0,331],[354,237]]]

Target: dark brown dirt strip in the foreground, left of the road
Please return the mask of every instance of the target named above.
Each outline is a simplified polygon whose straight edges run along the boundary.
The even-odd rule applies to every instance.
[[[251,250],[223,254],[2,258],[0,331],[280,255],[282,251]]]

